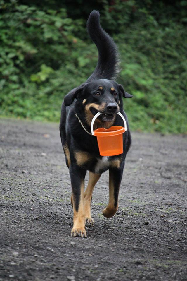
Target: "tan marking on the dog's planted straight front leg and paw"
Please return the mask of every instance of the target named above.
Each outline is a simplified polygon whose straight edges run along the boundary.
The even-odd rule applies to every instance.
[[[76,237],[86,237],[86,229],[84,226],[85,216],[84,216],[84,181],[82,181],[80,186],[81,194],[79,199],[79,209],[76,211],[75,204],[73,204],[73,228],[71,230],[71,236]],[[74,201],[74,195],[72,196]]]

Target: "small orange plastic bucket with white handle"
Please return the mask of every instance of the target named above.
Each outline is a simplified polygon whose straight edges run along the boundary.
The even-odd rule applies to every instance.
[[[123,133],[127,130],[127,124],[124,116],[119,112],[118,114],[124,121],[124,127],[112,126],[109,129],[98,128],[93,131],[93,123],[101,113],[98,112],[91,122],[91,133],[97,137],[99,153],[101,156],[113,156],[123,153]]]

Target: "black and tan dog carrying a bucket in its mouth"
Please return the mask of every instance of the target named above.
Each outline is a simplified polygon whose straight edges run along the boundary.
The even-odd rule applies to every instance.
[[[119,63],[117,47],[112,38],[101,28],[98,11],[91,12],[87,30],[98,48],[98,64],[85,83],[65,96],[60,118],[60,136],[72,184],[71,203],[74,216],[71,235],[74,237],[86,237],[85,225],[93,226],[94,221],[90,211],[93,189],[101,174],[108,169],[109,203],[103,210],[103,215],[108,218],[115,215],[125,157],[131,144],[122,97],[129,98],[132,95],[125,92],[122,85],[110,80],[117,73]],[[122,154],[100,156],[97,139],[90,131],[91,120],[97,112],[102,114],[96,119],[94,129],[110,128],[113,125],[124,126],[118,112],[121,112],[126,119],[127,131],[123,134]],[[87,170],[89,182],[84,191]]]

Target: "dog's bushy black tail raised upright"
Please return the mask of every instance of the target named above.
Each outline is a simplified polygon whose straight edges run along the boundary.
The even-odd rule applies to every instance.
[[[113,39],[100,25],[99,12],[93,10],[87,21],[87,31],[98,49],[98,63],[87,82],[93,79],[114,79],[120,71],[119,55]]]

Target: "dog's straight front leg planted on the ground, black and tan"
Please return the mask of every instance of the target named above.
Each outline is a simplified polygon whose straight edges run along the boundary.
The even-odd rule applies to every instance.
[[[84,226],[84,178],[86,170],[77,165],[70,165],[70,178],[72,185],[72,203],[73,203],[73,228],[71,236],[86,237]]]

